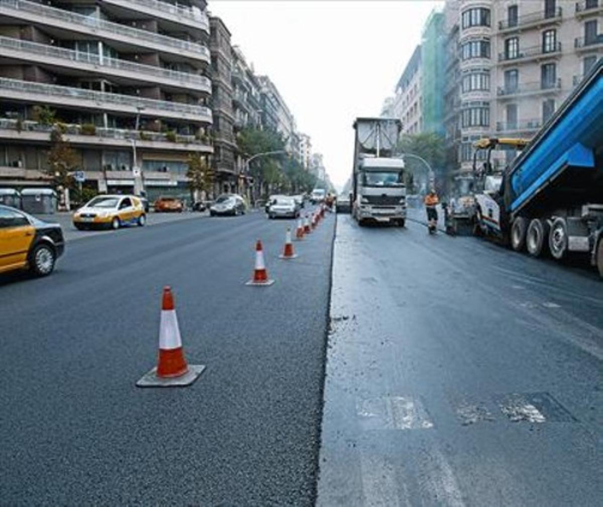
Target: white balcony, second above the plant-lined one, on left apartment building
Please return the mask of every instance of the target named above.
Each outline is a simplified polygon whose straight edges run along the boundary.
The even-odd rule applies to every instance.
[[[204,93],[212,92],[212,82],[205,76],[197,74],[177,72],[163,69],[163,67],[142,65],[128,60],[72,51],[10,37],[0,37],[0,48],[4,50],[2,52],[4,57],[25,60],[28,63],[69,67],[85,72],[129,78],[133,81],[192,89]]]

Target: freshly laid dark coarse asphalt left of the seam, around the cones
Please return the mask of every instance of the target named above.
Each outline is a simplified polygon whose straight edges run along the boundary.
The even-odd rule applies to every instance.
[[[0,505],[312,505],[335,217],[279,260],[263,213],[68,243],[0,278]],[[271,287],[245,287],[262,238]],[[171,285],[188,388],[154,366]]]

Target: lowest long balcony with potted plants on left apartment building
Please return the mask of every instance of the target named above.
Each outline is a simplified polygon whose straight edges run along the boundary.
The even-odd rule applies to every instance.
[[[27,142],[49,142],[49,135],[54,126],[42,125],[38,122],[0,119],[0,138],[24,140]],[[171,151],[204,151],[212,153],[213,148],[208,140],[201,140],[194,135],[173,136],[160,132],[136,131],[117,128],[95,127],[92,131],[82,125],[65,125],[65,137],[74,145],[101,145],[106,147],[130,147],[136,141],[137,148],[168,149]]]

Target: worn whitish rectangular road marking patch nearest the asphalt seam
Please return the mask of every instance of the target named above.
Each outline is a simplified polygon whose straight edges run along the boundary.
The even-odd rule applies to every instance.
[[[433,428],[423,403],[409,396],[383,396],[359,400],[356,414],[363,429]]]

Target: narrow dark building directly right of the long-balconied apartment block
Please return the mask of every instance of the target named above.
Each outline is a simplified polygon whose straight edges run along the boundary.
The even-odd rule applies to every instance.
[[[239,174],[233,110],[232,46],[230,31],[217,16],[209,17],[213,111],[212,167],[216,175],[215,193],[236,192]]]

